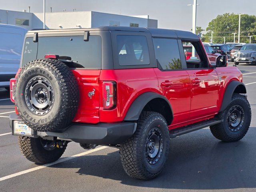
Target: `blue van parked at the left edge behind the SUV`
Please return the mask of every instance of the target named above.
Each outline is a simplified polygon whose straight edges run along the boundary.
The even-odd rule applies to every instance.
[[[25,28],[0,24],[0,87],[10,89],[10,79],[14,78],[19,65]]]

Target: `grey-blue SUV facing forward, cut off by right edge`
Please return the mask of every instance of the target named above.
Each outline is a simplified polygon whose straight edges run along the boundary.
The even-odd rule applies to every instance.
[[[234,55],[234,62],[239,63],[254,63],[256,64],[256,44],[245,44]]]

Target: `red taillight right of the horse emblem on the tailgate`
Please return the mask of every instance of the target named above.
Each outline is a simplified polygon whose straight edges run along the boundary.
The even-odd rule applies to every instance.
[[[103,109],[110,110],[116,107],[116,82],[103,82]]]

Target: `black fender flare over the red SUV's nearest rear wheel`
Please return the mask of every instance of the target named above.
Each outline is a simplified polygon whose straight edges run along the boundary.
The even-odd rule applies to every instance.
[[[164,99],[168,105],[170,106],[170,112],[172,113],[172,120],[173,120],[173,111],[172,111],[172,106],[169,102],[169,100],[160,95],[157,94],[155,92],[146,92],[141,94],[140,96],[138,96],[134,102],[132,102],[128,112],[126,113],[126,116],[124,118],[125,121],[135,121],[138,120],[140,117],[140,114],[143,110],[143,108],[146,106],[146,104],[148,104],[148,102],[150,102],[152,99],[156,99],[156,98],[161,98]]]

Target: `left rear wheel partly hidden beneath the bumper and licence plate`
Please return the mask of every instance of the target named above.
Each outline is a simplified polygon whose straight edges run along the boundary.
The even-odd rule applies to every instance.
[[[47,164],[58,160],[67,146],[66,142],[61,142],[60,146],[56,141],[44,140],[41,137],[19,136],[18,140],[23,156],[38,164]]]

